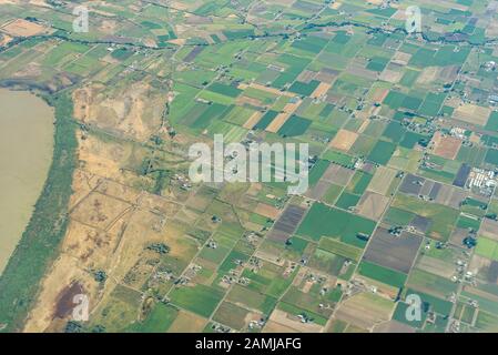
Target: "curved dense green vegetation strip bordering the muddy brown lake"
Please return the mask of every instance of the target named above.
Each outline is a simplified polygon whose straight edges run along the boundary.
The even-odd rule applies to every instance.
[[[68,203],[77,166],[75,124],[69,93],[44,98],[55,109],[52,165],[31,220],[0,277],[0,324],[17,331],[32,306],[47,267],[57,256],[68,225]]]

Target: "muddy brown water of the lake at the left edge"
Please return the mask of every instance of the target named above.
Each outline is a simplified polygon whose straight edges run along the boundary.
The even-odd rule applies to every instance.
[[[53,109],[0,89],[0,274],[28,225],[53,154]]]

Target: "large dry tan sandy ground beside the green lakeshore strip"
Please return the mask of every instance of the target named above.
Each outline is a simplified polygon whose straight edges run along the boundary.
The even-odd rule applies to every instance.
[[[148,100],[148,105],[152,104],[148,84],[141,88],[139,97],[134,97],[136,88],[123,89],[124,94],[115,88],[79,90],[74,93],[74,113],[87,124],[90,121],[91,124],[101,125],[105,118],[99,110],[112,106],[114,114],[122,115],[124,120],[140,120],[138,113],[133,114],[134,110],[140,111],[138,101],[145,105]],[[163,102],[163,99],[160,101]],[[111,122],[109,129],[119,124]],[[61,254],[42,280],[27,331],[60,331],[65,322],[54,320],[53,314],[58,306],[60,311],[61,295],[65,295],[74,283],[82,285],[89,295],[91,312],[98,308],[116,282],[122,282],[139,261],[149,260],[146,253],[151,252],[144,248],[150,243],[164,242],[171,248],[171,256],[179,260],[189,257],[195,250],[192,243],[185,242],[186,226],[182,227],[183,224],[174,220],[165,223],[180,210],[177,203],[124,184],[130,182],[133,172],[122,168],[128,166],[132,159],[140,162],[143,159],[141,150],[136,151],[123,141],[101,140],[82,131],[78,133],[78,139],[80,165],[73,180],[71,221],[61,244]],[[136,181],[138,178],[133,175],[132,179]],[[94,281],[94,270],[106,272],[104,286]],[[65,315],[67,312],[63,313]]]

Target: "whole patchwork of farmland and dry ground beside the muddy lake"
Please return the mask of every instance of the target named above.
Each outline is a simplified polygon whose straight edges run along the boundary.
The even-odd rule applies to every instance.
[[[498,332],[497,21],[491,0],[0,1],[0,99],[53,112],[44,185],[0,216],[0,332]],[[215,135],[307,153],[197,181]]]

